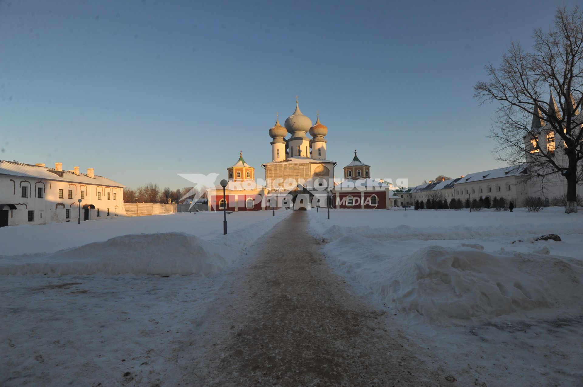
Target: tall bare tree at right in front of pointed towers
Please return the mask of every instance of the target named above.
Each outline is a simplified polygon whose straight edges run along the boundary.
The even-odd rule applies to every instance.
[[[565,212],[577,212],[577,184],[583,181],[578,168],[583,159],[583,13],[577,6],[559,8],[554,29],[535,30],[533,38],[532,52],[512,43],[498,67],[486,66],[490,79],[475,84],[475,97],[481,104],[500,102],[490,134],[500,146],[497,158],[511,165],[526,161],[525,178],[536,179],[543,189],[547,179],[563,176]]]

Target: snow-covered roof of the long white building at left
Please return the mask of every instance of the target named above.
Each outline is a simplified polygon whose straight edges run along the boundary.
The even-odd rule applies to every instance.
[[[98,186],[125,187],[123,184],[107,179],[107,177],[95,175],[89,177],[85,173],[75,173],[70,171],[57,171],[46,166],[24,164],[22,162],[0,160],[0,175],[33,177],[35,179],[53,180],[55,182],[71,182],[96,184]]]

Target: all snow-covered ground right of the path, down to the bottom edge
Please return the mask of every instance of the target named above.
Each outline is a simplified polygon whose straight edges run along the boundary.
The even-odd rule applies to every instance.
[[[461,385],[581,384],[583,213],[308,212],[339,272]]]

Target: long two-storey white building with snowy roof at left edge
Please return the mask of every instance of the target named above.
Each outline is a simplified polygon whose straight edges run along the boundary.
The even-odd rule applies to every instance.
[[[0,227],[111,219],[125,215],[124,186],[75,166],[0,160]]]

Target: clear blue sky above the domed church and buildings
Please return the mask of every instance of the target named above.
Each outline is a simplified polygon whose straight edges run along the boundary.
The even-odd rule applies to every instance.
[[[355,148],[411,185],[497,168],[472,86],[574,3],[0,1],[0,158],[177,188],[242,150],[264,177],[298,95],[338,177]]]

